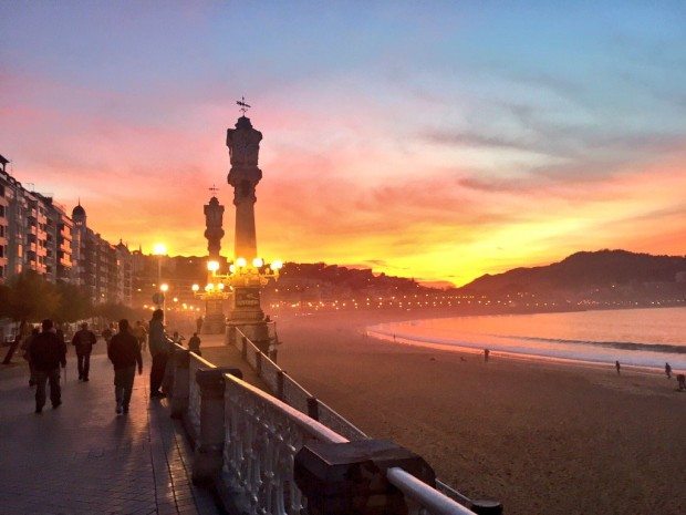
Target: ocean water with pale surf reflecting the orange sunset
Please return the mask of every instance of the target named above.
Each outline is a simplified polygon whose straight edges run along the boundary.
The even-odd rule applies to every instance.
[[[686,307],[412,320],[368,327],[402,344],[686,370]],[[493,354],[491,354],[493,356]]]

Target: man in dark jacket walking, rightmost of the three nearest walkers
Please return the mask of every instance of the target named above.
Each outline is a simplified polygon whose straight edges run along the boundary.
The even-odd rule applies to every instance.
[[[116,413],[128,413],[131,392],[134,389],[136,363],[138,375],[143,373],[143,358],[138,339],[131,333],[128,320],[119,320],[119,332],[112,337],[107,347],[107,356],[114,365],[114,396]]]

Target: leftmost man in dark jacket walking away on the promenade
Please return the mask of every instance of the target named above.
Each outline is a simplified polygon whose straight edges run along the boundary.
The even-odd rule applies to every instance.
[[[66,346],[60,341],[52,327],[52,320],[43,320],[43,331],[31,341],[29,350],[31,363],[35,371],[35,412],[45,405],[45,382],[50,381],[50,401],[52,408],[62,404],[60,390],[60,364],[66,367]]]

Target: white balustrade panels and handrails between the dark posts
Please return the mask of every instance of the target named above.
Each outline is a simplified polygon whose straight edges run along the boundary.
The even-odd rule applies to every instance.
[[[257,369],[259,349],[237,329],[235,344],[239,350],[243,338],[247,360]],[[195,378],[194,357],[191,353],[191,378]],[[274,393],[279,390],[281,373],[283,401],[240,379],[225,375],[221,487],[248,514],[301,515],[306,506],[293,478],[295,453],[308,442],[342,443],[368,436],[314,399],[266,356],[259,369],[260,377]],[[319,422],[309,416],[313,401]],[[191,399],[189,411],[194,402]],[[475,515],[464,506],[469,499],[444,483],[437,482],[434,488],[399,467],[389,468],[387,478],[405,495],[408,515]]]

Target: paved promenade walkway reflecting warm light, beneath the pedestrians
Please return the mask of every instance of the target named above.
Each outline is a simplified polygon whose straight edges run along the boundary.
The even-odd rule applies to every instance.
[[[149,354],[144,361],[131,412],[118,416],[102,353],[92,358],[87,383],[77,381],[72,353],[63,404],[53,410],[49,401],[41,414],[27,375],[0,374],[3,515],[220,513],[190,482],[191,451],[166,401],[148,399]]]

